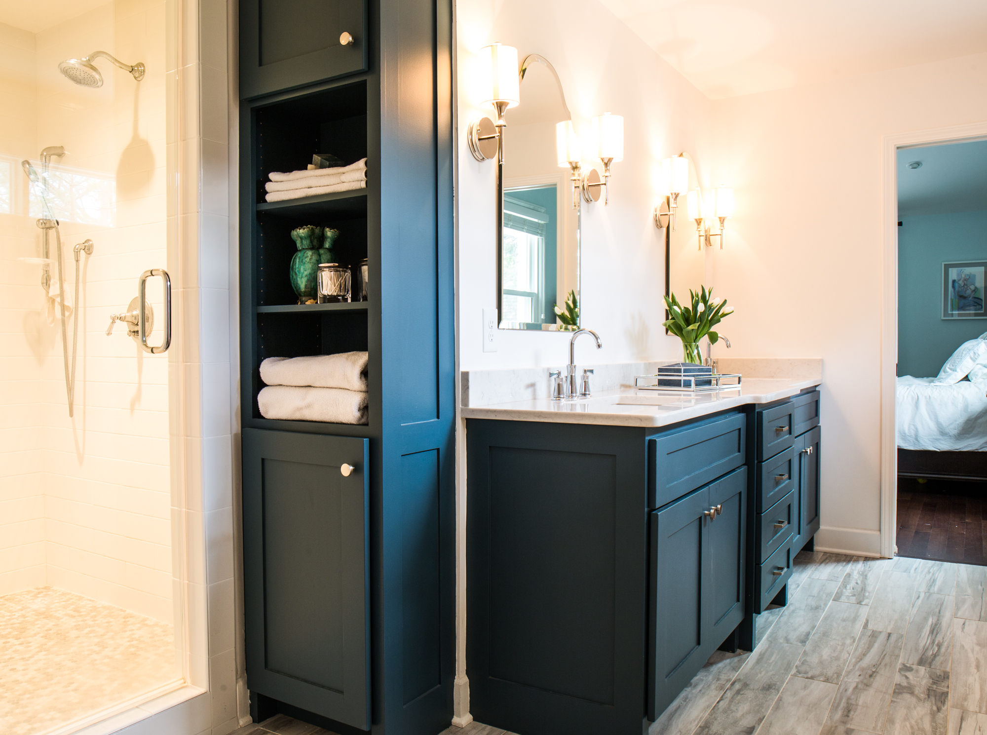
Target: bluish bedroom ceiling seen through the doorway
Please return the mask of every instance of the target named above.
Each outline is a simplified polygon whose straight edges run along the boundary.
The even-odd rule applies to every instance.
[[[899,217],[979,209],[987,209],[987,140],[898,150]]]

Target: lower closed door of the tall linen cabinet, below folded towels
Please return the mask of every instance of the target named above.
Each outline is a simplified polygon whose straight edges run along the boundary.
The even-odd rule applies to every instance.
[[[366,439],[243,430],[250,688],[361,730],[370,729],[368,459]]]

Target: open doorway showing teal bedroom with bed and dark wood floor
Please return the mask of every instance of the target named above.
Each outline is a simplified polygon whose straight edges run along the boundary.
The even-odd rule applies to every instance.
[[[896,163],[897,554],[987,566],[987,140]]]

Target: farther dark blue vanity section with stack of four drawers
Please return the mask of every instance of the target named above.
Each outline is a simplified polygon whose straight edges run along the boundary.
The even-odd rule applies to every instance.
[[[819,391],[756,406],[749,414],[756,442],[749,447],[754,468],[749,530],[748,615],[740,628],[741,648],[757,641],[757,616],[772,603],[788,601],[795,555],[819,530]]]

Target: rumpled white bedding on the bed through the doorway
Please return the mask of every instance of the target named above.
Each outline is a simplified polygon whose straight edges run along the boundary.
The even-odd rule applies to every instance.
[[[987,451],[987,383],[934,377],[898,378],[895,424],[898,449]]]

